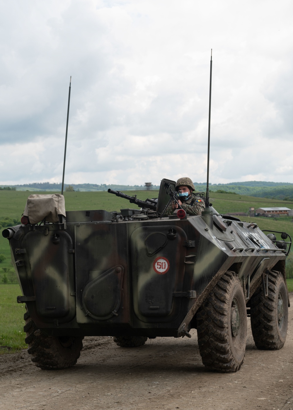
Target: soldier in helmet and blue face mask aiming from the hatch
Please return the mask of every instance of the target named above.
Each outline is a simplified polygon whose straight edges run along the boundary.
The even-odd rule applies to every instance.
[[[176,191],[179,191],[178,203],[189,215],[201,215],[201,211],[204,210],[204,200],[193,194],[195,190],[193,182],[188,177],[179,178],[176,182]],[[178,208],[178,204],[174,201],[167,207],[163,216],[172,215],[174,210]]]

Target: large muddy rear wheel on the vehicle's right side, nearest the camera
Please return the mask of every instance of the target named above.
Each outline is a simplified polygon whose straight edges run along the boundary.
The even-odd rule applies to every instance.
[[[199,353],[205,366],[222,372],[240,369],[247,338],[243,289],[227,271],[197,312]]]

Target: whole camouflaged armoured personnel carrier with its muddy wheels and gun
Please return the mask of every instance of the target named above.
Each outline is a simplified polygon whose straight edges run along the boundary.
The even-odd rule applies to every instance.
[[[3,230],[37,367],[72,366],[84,336],[112,336],[131,347],[147,338],[191,337],[196,328],[203,364],[237,371],[247,314],[258,348],[282,348],[291,237],[266,235],[213,207],[201,216],[176,210],[162,217],[170,190],[176,194],[175,182],[164,179],[157,200],[128,197],[141,209],[119,212],[65,212],[62,195],[32,195],[22,224]]]

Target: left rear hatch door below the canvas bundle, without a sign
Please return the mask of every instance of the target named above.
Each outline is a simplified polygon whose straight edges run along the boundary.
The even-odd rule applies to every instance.
[[[25,235],[22,247],[30,264],[37,312],[48,318],[70,321],[75,315],[72,278],[71,237],[63,231],[32,231]]]

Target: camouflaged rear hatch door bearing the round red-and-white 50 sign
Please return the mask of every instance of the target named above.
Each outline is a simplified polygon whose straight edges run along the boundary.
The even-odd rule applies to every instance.
[[[140,319],[170,315],[172,320],[174,305],[180,311],[181,301],[174,301],[173,292],[182,292],[186,239],[175,225],[144,226],[132,233],[133,303]]]

